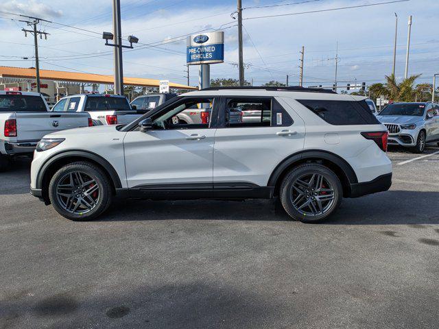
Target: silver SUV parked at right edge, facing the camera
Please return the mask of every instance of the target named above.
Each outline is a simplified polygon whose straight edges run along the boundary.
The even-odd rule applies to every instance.
[[[422,153],[426,143],[439,143],[437,103],[391,103],[379,112],[377,119],[389,130],[389,145],[410,147],[414,153]]]

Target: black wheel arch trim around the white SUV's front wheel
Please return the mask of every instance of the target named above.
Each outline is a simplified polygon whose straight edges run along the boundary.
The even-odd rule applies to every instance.
[[[63,151],[58,154],[54,154],[53,156],[48,158],[41,167],[36,177],[36,188],[40,188],[42,190],[42,197],[45,200],[46,204],[49,203],[48,186],[52,175],[54,175],[54,173],[56,173],[56,171],[60,169],[64,164],[75,161],[91,162],[100,169],[102,169],[102,171],[104,171],[105,175],[110,181],[113,193],[115,193],[117,188],[122,187],[121,180],[119,178],[119,175],[117,174],[117,171],[114,169],[114,167],[112,167],[110,162],[102,158],[102,156],[99,156],[98,154],[95,154],[91,151]]]

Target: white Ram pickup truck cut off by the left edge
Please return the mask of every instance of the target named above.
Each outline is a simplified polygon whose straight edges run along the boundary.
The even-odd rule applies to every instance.
[[[15,156],[32,156],[43,136],[91,124],[88,113],[49,112],[39,93],[0,90],[0,171]]]

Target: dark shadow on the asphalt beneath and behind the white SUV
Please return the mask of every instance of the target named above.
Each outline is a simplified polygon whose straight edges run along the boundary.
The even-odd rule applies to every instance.
[[[439,192],[387,191],[344,199],[341,208],[324,225],[438,224]],[[289,221],[280,202],[117,201],[101,221],[156,221],[173,219],[230,221]]]

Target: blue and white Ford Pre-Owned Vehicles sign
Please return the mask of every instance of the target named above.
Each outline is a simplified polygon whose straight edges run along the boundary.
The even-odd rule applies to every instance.
[[[186,58],[188,65],[224,62],[224,32],[188,36]]]

